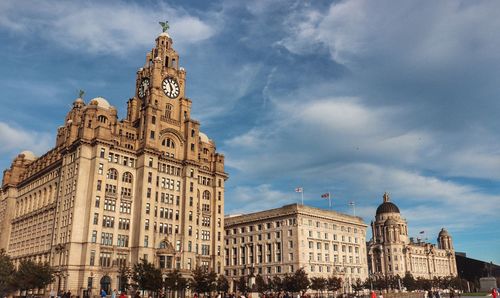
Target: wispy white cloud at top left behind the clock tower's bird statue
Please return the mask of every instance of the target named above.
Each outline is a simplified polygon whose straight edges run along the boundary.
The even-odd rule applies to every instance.
[[[215,34],[208,22],[166,4],[4,1],[1,8],[0,26],[90,53],[123,55],[149,46],[161,30],[158,21],[165,19],[171,20],[169,32],[180,47]]]

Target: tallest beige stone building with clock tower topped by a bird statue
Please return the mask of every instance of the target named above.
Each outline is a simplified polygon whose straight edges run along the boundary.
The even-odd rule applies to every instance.
[[[47,261],[52,289],[119,288],[118,269],[145,258],[164,271],[221,272],[224,156],[191,118],[186,71],[167,33],[137,71],[126,118],[104,98],[76,99],[56,144],[4,171],[0,248]]]

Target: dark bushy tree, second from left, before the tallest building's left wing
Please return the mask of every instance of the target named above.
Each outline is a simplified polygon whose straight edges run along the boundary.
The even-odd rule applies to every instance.
[[[48,263],[23,260],[14,273],[15,287],[21,291],[43,289],[54,281],[54,270]]]

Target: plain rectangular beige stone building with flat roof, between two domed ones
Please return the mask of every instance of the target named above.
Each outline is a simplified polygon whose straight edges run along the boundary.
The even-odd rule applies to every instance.
[[[366,228],[360,217],[299,204],[227,216],[225,274],[283,276],[304,268],[309,277],[342,277],[349,291],[368,277]]]

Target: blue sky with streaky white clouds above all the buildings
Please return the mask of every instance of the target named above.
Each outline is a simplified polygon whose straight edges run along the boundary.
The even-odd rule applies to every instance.
[[[43,154],[79,89],[125,116],[168,20],[226,214],[300,202],[500,264],[498,1],[0,2],[0,168]],[[355,202],[355,210],[349,206]],[[368,232],[368,238],[371,232]]]

